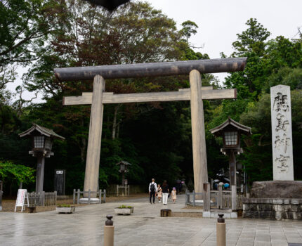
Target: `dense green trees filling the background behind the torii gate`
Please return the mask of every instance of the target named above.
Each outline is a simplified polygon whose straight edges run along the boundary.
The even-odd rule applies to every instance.
[[[27,13],[31,0],[20,1],[18,8],[24,8],[24,15],[33,18],[34,29],[30,30],[37,29],[39,38],[28,40],[29,49],[20,45],[11,53],[3,53],[11,37],[21,28],[18,25],[27,30],[27,19],[23,16],[16,22],[20,24],[15,30],[1,30],[5,34],[1,34],[0,44],[5,45],[0,50],[0,60],[8,60],[2,64],[4,69],[14,65],[15,60],[9,60],[10,56],[19,56],[18,63],[23,65],[31,62],[22,88],[39,91],[45,102],[11,103],[4,82],[13,79],[14,70],[6,75],[0,71],[4,84],[0,87],[0,157],[34,168],[36,160],[28,155],[29,141],[20,140],[18,133],[31,127],[32,122],[53,129],[66,140],[55,141],[55,155],[46,159],[44,188],[53,189],[54,169],[66,169],[66,189],[70,193],[74,188],[82,188],[84,183],[90,107],[63,106],[62,98],[91,91],[92,82],[60,82],[53,76],[53,68],[197,60],[209,59],[209,56],[190,48],[188,40],[197,32],[195,22],[183,22],[182,29],[178,30],[173,20],[149,4],[132,2],[111,13],[85,1],[34,2],[38,4],[37,13]],[[9,11],[10,8],[2,4],[0,16]],[[45,20],[47,25],[43,24]],[[238,157],[247,171],[249,183],[272,179],[269,91],[270,86],[287,84],[292,90],[294,174],[296,179],[302,179],[298,165],[302,158],[298,151],[302,147],[302,39],[269,37],[270,32],[256,19],[248,20],[247,30],[237,34],[232,44],[235,49],[232,56],[247,56],[246,69],[230,74],[224,84],[213,75],[202,75],[203,86],[237,88],[238,95],[237,100],[204,101],[211,178],[216,178],[222,168],[228,169],[228,160],[220,152],[221,139],[214,138],[209,129],[230,116],[252,127],[253,135],[244,138],[244,154]],[[106,91],[114,93],[176,91],[188,86],[186,76],[106,81]],[[169,183],[181,178],[192,181],[190,102],[105,105],[103,119],[101,188],[120,182],[115,165],[120,160],[132,164],[126,174],[129,183],[146,184],[152,177],[159,183],[164,179]]]

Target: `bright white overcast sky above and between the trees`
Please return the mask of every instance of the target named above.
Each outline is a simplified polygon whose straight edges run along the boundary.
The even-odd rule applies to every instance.
[[[245,22],[256,18],[268,31],[270,39],[279,35],[294,38],[298,27],[302,27],[301,0],[147,0],[154,8],[161,9],[169,18],[176,21],[178,28],[186,20],[195,22],[199,29],[190,43],[202,46],[196,51],[208,53],[210,58],[220,58],[222,51],[229,56],[236,34],[247,29]],[[24,69],[20,69],[22,76]],[[215,74],[223,80],[225,73]],[[20,79],[8,84],[14,90]],[[26,95],[27,97],[30,94]],[[39,102],[39,101],[36,101]]]

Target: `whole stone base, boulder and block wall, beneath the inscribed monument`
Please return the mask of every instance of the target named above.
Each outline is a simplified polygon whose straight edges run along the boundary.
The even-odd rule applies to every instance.
[[[302,219],[302,181],[254,182],[242,206],[244,218]]]

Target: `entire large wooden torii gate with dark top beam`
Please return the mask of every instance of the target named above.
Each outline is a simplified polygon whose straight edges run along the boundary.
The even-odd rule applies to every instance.
[[[55,76],[62,81],[91,80],[93,92],[67,96],[63,105],[91,104],[91,117],[86,155],[84,191],[96,191],[100,166],[103,108],[106,103],[144,103],[154,101],[189,101],[191,105],[192,153],[195,191],[202,193],[208,182],[206,138],[202,99],[236,98],[236,89],[213,90],[202,87],[200,73],[237,72],[244,70],[247,58],[186,60],[164,63],[137,63],[93,67],[56,68]],[[105,79],[190,75],[190,89],[169,92],[114,94],[105,92]]]

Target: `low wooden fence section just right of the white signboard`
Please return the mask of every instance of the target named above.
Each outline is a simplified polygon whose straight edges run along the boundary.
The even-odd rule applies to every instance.
[[[57,205],[57,192],[28,193],[29,207]]]

